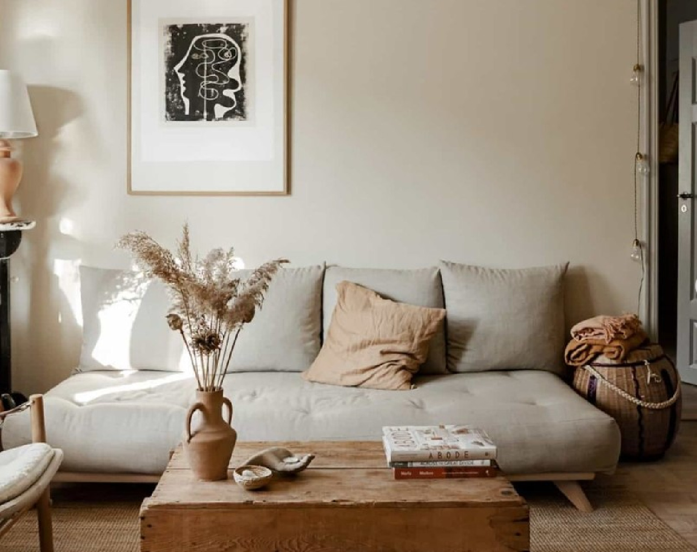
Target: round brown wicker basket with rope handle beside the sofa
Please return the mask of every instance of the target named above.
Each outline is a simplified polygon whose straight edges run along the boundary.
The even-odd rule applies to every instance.
[[[611,415],[622,433],[622,457],[661,458],[680,425],[680,377],[660,345],[646,345],[618,363],[599,357],[579,366],[574,388]]]

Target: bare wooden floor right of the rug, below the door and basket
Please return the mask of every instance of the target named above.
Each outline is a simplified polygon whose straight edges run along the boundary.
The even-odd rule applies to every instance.
[[[697,401],[691,407],[697,407]],[[615,475],[600,476],[599,482],[631,488],[654,514],[697,547],[697,422],[682,422],[675,445],[663,460],[622,464]]]

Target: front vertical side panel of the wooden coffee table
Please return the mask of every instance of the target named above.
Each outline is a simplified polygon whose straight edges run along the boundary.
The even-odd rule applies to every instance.
[[[154,510],[141,552],[522,552],[527,507]]]

